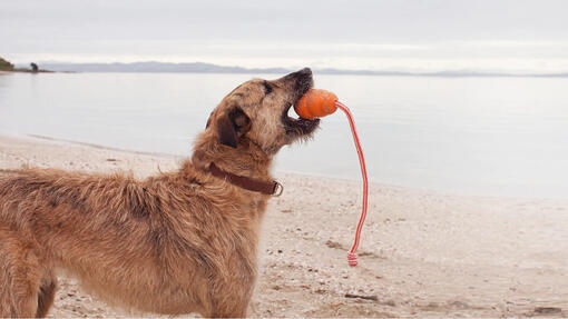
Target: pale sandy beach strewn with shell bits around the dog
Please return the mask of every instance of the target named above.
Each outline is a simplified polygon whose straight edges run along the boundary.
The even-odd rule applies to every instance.
[[[141,178],[175,169],[179,161],[0,137],[0,168],[131,170]],[[264,220],[251,317],[568,316],[568,199],[466,197],[372,185],[360,265],[349,267],[360,182],[275,176],[285,191],[271,201]],[[117,316],[154,315],[110,308],[75,279],[60,278],[49,317]]]

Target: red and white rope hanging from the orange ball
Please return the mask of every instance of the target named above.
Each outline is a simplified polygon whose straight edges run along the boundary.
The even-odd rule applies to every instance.
[[[349,124],[351,126],[351,132],[353,133],[353,141],[355,143],[355,148],[358,150],[359,154],[359,163],[361,166],[361,175],[363,176],[363,209],[361,212],[361,217],[359,218],[359,225],[358,230],[355,232],[355,241],[353,242],[353,246],[351,247],[351,250],[347,253],[347,262],[349,266],[356,266],[358,265],[358,256],[356,250],[359,248],[359,242],[361,239],[361,230],[363,229],[363,223],[365,222],[366,218],[366,203],[368,203],[368,197],[369,197],[369,181],[366,179],[366,167],[365,167],[365,158],[363,157],[363,150],[361,149],[361,142],[359,141],[358,131],[355,129],[355,122],[353,121],[353,117],[351,116],[351,111],[347,107],[345,107],[342,102],[335,101],[335,106],[340,108],[343,112],[345,112],[345,116],[347,116]]]

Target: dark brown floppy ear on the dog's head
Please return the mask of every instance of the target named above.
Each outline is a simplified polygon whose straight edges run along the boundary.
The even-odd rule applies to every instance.
[[[219,143],[236,148],[238,138],[251,129],[251,119],[241,108],[221,114],[217,119]]]

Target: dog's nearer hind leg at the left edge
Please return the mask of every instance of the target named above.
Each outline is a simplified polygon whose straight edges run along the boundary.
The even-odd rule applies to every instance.
[[[30,245],[0,227],[0,317],[35,317],[41,269]]]

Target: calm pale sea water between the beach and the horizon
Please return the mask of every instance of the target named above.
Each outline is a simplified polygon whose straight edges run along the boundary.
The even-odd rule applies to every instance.
[[[275,78],[274,74],[259,76]],[[251,74],[0,74],[0,133],[189,154]],[[451,193],[568,198],[568,79],[315,76],[354,113],[370,179]],[[360,179],[342,112],[276,169]]]

